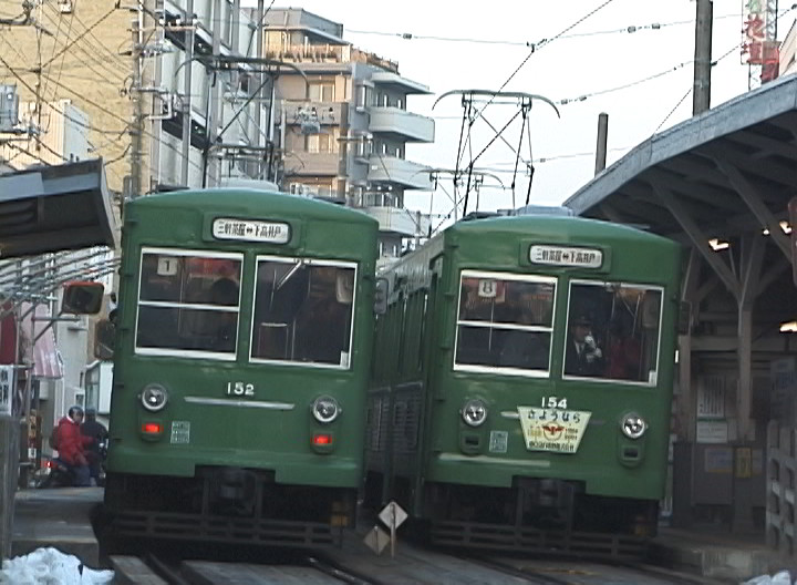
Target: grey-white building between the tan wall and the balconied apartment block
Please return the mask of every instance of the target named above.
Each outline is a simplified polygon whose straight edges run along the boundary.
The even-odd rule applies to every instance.
[[[149,187],[272,179],[273,72],[258,62],[256,21],[239,0],[165,0],[162,24],[143,68],[152,68]]]

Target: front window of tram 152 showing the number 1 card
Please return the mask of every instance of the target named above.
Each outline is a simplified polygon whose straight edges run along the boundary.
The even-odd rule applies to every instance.
[[[144,252],[136,348],[235,355],[241,255]]]

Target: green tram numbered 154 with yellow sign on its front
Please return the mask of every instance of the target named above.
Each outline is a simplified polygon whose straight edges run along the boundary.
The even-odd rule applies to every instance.
[[[401,258],[380,275],[365,502],[436,544],[638,547],[664,495],[680,273],[671,240],[550,215],[459,222]]]

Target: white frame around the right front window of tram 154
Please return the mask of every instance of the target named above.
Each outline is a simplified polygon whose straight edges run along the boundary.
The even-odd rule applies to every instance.
[[[575,295],[573,287],[583,287],[582,292]],[[645,292],[645,295],[638,298],[638,308],[635,312],[631,312],[630,308],[624,302],[617,304],[617,300],[623,300],[622,298],[614,298],[614,309],[611,310],[611,306],[603,302],[601,307],[600,299],[597,296],[588,298],[584,296],[586,287],[593,287],[594,291],[612,292],[612,298],[618,296],[622,290],[639,290]],[[658,295],[658,305],[654,310],[652,309],[655,296]],[[622,296],[622,295],[620,295]],[[625,296],[629,296],[625,294]],[[645,300],[653,299],[653,301]],[[608,297],[607,297],[608,300]],[[653,388],[658,383],[659,370],[661,367],[661,343],[663,335],[663,311],[664,311],[664,287],[661,285],[651,285],[639,281],[621,281],[621,280],[591,280],[591,279],[571,279],[568,283],[568,300],[567,300],[567,324],[565,335],[565,346],[562,347],[562,379],[563,380],[580,380],[590,381],[596,383],[611,383],[611,384],[630,384],[638,387]],[[653,312],[651,312],[653,310]],[[628,314],[625,312],[628,311]],[[651,319],[655,318],[655,324],[651,324]],[[571,341],[571,324],[576,319],[587,319],[590,327],[590,335],[593,336],[597,347],[601,349],[601,361],[603,371],[601,373],[589,372],[589,373],[573,373],[568,370],[568,343]],[[631,319],[631,327],[628,327],[628,319]],[[644,322],[643,322],[644,321]],[[638,330],[639,329],[639,330]],[[654,329],[654,335],[650,335],[650,330]],[[648,330],[648,331],[644,331]],[[639,342],[639,347],[634,346],[633,351],[628,345],[614,346],[615,339],[632,340],[632,342]],[[644,336],[641,340],[634,340],[636,336]],[[625,343],[628,341],[624,341]],[[651,342],[653,347],[651,348]],[[622,355],[624,360],[628,360],[628,356],[636,355],[636,368],[640,372],[636,378],[630,378],[627,373],[620,374],[620,371],[627,371],[627,368],[632,365],[628,365],[625,368],[618,369],[612,365],[613,356]],[[634,358],[631,358],[634,359]],[[646,367],[646,376],[642,376],[642,368]]]

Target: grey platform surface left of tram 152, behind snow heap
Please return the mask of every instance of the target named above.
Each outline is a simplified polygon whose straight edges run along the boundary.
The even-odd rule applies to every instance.
[[[52,546],[85,565],[100,566],[100,545],[91,517],[102,488],[22,490],[14,497],[11,557]]]

